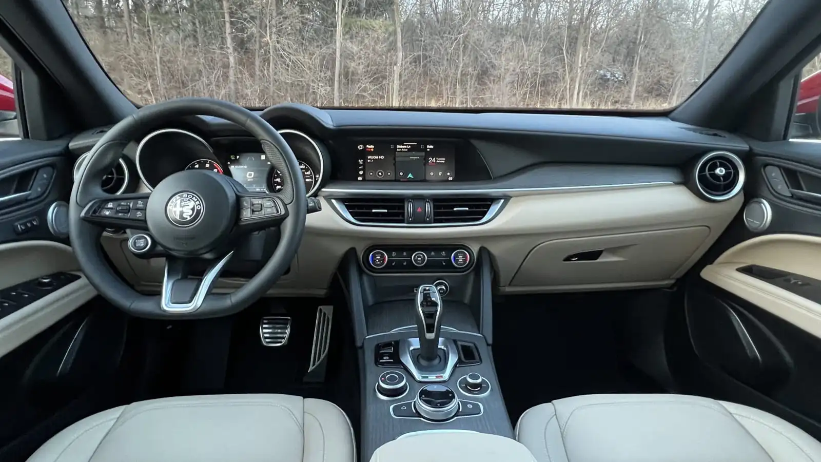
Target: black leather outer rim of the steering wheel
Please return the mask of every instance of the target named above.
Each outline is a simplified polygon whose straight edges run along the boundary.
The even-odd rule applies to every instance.
[[[100,178],[117,164],[122,150],[131,141],[152,127],[194,115],[213,116],[234,122],[260,141],[264,152],[269,158],[273,157],[272,164],[280,167],[282,172],[284,194],[279,197],[287,208],[287,218],[280,224],[280,241],[271,258],[241,288],[232,293],[209,293],[199,307],[190,312],[167,312],[161,308],[161,296],[138,293],[115,274],[108,265],[99,242],[103,229],[98,224],[83,219],[82,214],[89,203],[103,197],[112,197],[103,192],[99,184]],[[305,231],[307,199],[296,156],[282,136],[263,118],[227,101],[183,98],[144,106],[118,122],[97,142],[78,176],[71,189],[69,203],[71,247],[80,269],[94,289],[110,303],[134,316],[180,319],[226,316],[239,312],[261,298],[279,280],[296,256]],[[150,201],[151,198],[149,207]]]

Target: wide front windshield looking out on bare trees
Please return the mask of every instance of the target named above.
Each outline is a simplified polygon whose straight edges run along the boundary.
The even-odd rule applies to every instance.
[[[67,0],[138,104],[666,109],[765,0]]]

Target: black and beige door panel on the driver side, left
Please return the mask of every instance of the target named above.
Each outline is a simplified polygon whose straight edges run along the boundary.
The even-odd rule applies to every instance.
[[[49,227],[73,160],[67,141],[0,142],[0,460],[25,460],[116,390],[127,318],[95,298],[67,220]]]

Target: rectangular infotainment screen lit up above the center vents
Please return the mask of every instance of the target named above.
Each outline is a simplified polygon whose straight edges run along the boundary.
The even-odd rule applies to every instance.
[[[444,182],[456,178],[456,147],[443,141],[358,141],[358,181]]]

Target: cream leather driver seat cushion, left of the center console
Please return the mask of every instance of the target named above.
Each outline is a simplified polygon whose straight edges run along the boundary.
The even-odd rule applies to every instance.
[[[96,413],[47,441],[29,462],[355,462],[342,409],[291,395],[202,395]]]

